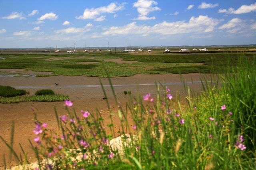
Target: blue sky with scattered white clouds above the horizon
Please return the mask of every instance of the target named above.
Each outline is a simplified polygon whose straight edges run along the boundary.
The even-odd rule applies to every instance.
[[[0,48],[256,44],[256,0],[0,0]]]

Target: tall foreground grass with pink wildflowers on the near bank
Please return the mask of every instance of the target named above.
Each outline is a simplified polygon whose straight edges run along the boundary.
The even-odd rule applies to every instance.
[[[172,98],[170,89],[161,84],[156,85],[156,98],[139,92],[136,97],[130,95],[126,109],[115,98],[115,114],[102,86],[110,112],[108,124],[103,123],[98,109],[96,113],[76,113],[68,100],[66,113],[59,117],[55,111],[59,127],[56,131],[36,119],[33,111],[35,135],[30,143],[38,162],[48,158],[46,164],[39,163],[39,168],[254,170],[254,58],[241,55],[236,65],[222,68],[224,74],[217,74],[216,79],[212,75],[214,82],[202,78],[202,93],[194,94],[186,88],[187,104],[179,97]],[[114,115],[120,119],[119,132],[113,130]],[[132,124],[128,117],[132,117]],[[120,140],[116,144],[121,147],[110,143],[117,136]]]

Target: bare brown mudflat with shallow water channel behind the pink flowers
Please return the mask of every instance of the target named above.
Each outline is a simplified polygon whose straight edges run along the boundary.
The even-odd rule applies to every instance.
[[[170,88],[172,96],[175,97],[176,94],[184,96],[186,95],[186,90],[184,90],[183,85],[184,82],[186,82],[187,86],[194,90],[194,92],[200,92],[202,86],[200,80],[202,79],[202,76],[210,77],[208,74],[201,75],[197,73],[182,74],[182,78],[178,74],[140,74],[130,77],[115,77],[110,78],[114,88],[113,94],[108,78],[86,76],[36,77],[35,75],[38,74],[38,72],[24,70],[5,71],[12,72],[12,75],[19,74],[20,76],[10,76],[10,74],[0,75],[0,85],[23,89],[28,91],[30,95],[33,95],[37,90],[41,89],[51,89],[57,94],[68,95],[73,102],[73,106],[69,108],[70,111],[74,109],[77,114],[80,113],[80,110],[88,110],[91,113],[96,113],[97,108],[102,114],[106,124],[109,123],[109,110],[106,104],[106,99],[104,99],[104,93],[100,82],[104,86],[112,112],[117,113],[117,104],[115,103],[114,96],[122,107],[126,107],[129,95],[125,95],[124,91],[130,92],[131,96],[134,97],[136,97],[138,93],[142,96],[150,93],[153,98],[156,98],[156,84],[165,84]],[[163,90],[164,89],[160,85],[160,92],[163,92]],[[49,129],[56,129],[57,123],[54,107],[59,116],[67,113],[67,110],[64,107],[64,102],[0,103],[0,136],[9,143],[12,122],[14,122],[14,149],[16,152],[21,153],[20,144],[22,148],[28,152],[28,160],[34,162],[36,159],[33,151],[30,149],[28,141],[28,139],[30,139],[34,142],[33,139],[36,137],[33,133],[35,124],[31,108],[34,108],[40,121],[48,124]],[[133,123],[131,117],[128,117],[128,119],[130,121],[129,125],[132,126]],[[118,126],[118,116],[114,116],[114,128],[116,131],[118,130]],[[2,141],[0,141],[0,154],[0,169],[4,166],[3,155],[6,158],[8,166],[17,164],[14,161],[14,156],[10,158],[10,150]]]

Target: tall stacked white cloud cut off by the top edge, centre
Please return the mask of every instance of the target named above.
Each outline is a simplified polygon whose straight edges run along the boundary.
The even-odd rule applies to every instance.
[[[157,6],[153,7],[153,5],[157,5],[157,2],[154,0],[138,0],[137,2],[135,2],[133,4],[133,7],[137,8],[137,11],[139,13],[138,18],[136,18],[135,20],[154,20],[155,17],[147,17],[147,15],[150,12],[157,10],[160,11],[161,9]]]

